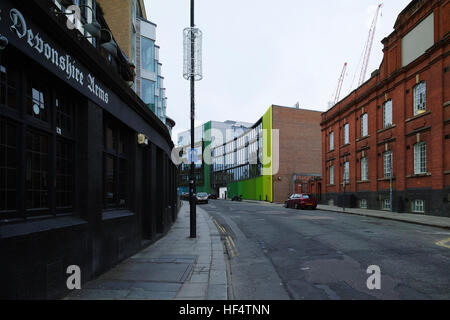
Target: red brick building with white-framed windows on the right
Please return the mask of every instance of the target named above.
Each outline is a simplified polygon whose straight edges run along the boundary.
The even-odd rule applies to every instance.
[[[412,1],[380,68],[323,113],[322,203],[450,216],[449,17]]]

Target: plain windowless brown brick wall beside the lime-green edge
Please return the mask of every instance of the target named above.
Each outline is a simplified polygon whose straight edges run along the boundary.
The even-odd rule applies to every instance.
[[[273,129],[280,134],[279,172],[273,176],[274,202],[293,193],[293,176],[321,174],[321,112],[273,106]]]

